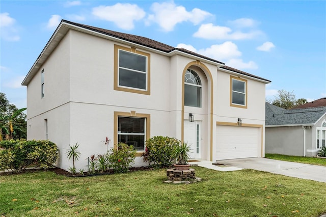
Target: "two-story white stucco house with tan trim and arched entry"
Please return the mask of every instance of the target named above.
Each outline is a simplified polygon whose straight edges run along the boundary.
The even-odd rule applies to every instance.
[[[22,82],[28,140],[56,143],[66,170],[69,144],[80,144],[76,168],[85,168],[106,153],[106,137],[137,149],[134,166],[155,135],[188,142],[194,159],[264,157],[267,83],[183,48],[62,20]]]

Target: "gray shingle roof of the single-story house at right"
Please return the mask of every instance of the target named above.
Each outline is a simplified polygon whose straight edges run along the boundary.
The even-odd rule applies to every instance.
[[[266,102],[265,126],[314,125],[326,115],[326,106],[286,110]]]

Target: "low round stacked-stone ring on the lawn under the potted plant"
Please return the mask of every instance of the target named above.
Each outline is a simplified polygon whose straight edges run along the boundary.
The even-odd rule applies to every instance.
[[[201,181],[201,178],[196,178],[195,169],[189,168],[189,170],[176,170],[175,168],[167,170],[168,180],[165,183],[184,183],[189,184],[197,181]]]

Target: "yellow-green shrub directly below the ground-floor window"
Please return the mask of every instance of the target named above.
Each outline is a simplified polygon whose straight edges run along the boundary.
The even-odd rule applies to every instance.
[[[136,150],[132,145],[119,143],[118,149],[111,148],[111,154],[108,155],[108,164],[113,168],[115,173],[125,173],[128,171],[130,164],[134,162]]]

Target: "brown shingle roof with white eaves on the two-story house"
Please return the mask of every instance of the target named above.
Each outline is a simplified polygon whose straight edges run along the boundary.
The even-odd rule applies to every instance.
[[[179,47],[173,47],[146,37],[142,37],[142,36],[137,36],[137,35],[131,35],[131,34],[126,34],[126,33],[120,33],[120,32],[115,32],[115,31],[111,31],[111,30],[106,30],[106,29],[102,29],[102,28],[97,28],[94,26],[90,26],[90,25],[85,25],[85,24],[80,24],[80,23],[76,23],[76,22],[71,22],[68,20],[61,20],[61,23],[59,24],[57,30],[55,31],[55,33],[53,33],[52,37],[50,38],[50,40],[47,42],[46,46],[44,47],[43,51],[40,53],[39,57],[37,58],[36,62],[34,63],[34,65],[32,66],[32,68],[30,69],[30,71],[28,72],[28,74],[26,75],[26,77],[24,78],[22,85],[28,85],[28,83],[31,81],[32,77],[36,74],[37,70],[41,67],[41,65],[46,61],[46,59],[49,57],[49,55],[51,54],[51,52],[57,47],[58,43],[61,41],[61,39],[64,37],[64,35],[70,30],[70,29],[74,29],[77,31],[82,31],[85,33],[89,33],[92,32],[92,34],[96,33],[95,35],[101,35],[101,36],[106,36],[106,37],[110,37],[110,38],[115,38],[115,39],[119,39],[119,40],[124,40],[126,42],[130,42],[136,45],[140,45],[140,46],[145,46],[151,49],[155,49],[157,51],[161,51],[161,52],[165,52],[167,54],[172,53],[172,52],[181,52],[187,55],[192,55],[195,57],[198,57],[198,59],[202,59],[202,60],[207,60],[210,62],[215,63],[216,65],[219,65],[219,67],[235,72],[235,73],[239,73],[242,75],[246,75],[249,77],[253,77],[253,78],[257,78],[259,80],[264,81],[265,83],[270,83],[270,80],[267,80],[265,78],[247,73],[247,72],[243,72],[241,70],[229,67],[229,66],[225,66],[224,63],[218,61],[218,60],[214,60],[212,58],[209,57],[205,57],[203,55],[200,55],[199,53],[184,49],[184,48],[179,48]]]

